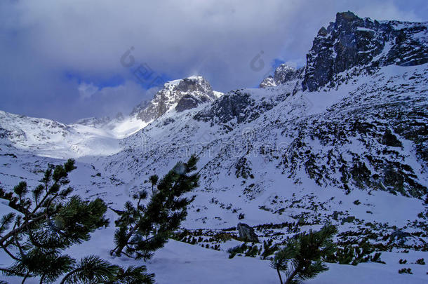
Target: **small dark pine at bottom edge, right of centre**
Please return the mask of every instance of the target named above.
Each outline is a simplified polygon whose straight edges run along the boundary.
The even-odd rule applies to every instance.
[[[327,224],[320,231],[298,234],[288,240],[286,245],[275,253],[271,266],[276,270],[281,284],[281,271],[286,274],[286,284],[300,283],[314,278],[316,274],[328,270],[323,259],[335,252],[333,236],[335,226]]]

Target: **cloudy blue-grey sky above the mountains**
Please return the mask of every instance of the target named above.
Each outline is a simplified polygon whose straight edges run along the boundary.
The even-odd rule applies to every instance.
[[[272,65],[305,65],[336,12],[427,21],[425,2],[4,0],[0,109],[69,123],[128,114],[151,87],[195,74],[220,91],[258,86]]]

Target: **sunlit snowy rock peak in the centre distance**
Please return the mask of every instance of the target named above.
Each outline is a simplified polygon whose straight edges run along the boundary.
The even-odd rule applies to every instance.
[[[149,123],[172,109],[178,112],[192,109],[199,104],[212,102],[220,95],[222,93],[214,91],[203,76],[190,76],[166,82],[151,102],[142,104],[133,113],[138,119]]]

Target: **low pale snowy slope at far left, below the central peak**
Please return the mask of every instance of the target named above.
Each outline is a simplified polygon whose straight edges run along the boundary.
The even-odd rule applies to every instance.
[[[55,158],[100,156],[121,149],[116,137],[104,130],[4,111],[0,111],[0,137],[19,149]]]

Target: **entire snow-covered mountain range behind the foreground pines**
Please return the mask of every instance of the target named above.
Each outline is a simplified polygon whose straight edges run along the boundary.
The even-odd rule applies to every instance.
[[[331,222],[338,245],[366,242],[382,251],[387,265],[361,264],[368,274],[424,283],[424,267],[408,264],[415,274],[401,276],[397,263],[428,250],[427,27],[337,13],[303,68],[281,65],[260,88],[225,94],[201,76],[170,81],[114,123],[67,126],[0,112],[2,182],[6,189],[20,179],[34,183],[43,165],[58,163],[46,156],[78,153],[76,191],[120,208],[150,188],[150,175],[197,154],[201,185],[179,241],[226,251],[241,244],[238,222],[274,243]],[[339,283],[332,273],[325,282]],[[356,283],[377,283],[358,275]]]

